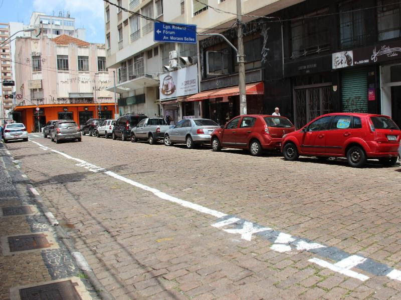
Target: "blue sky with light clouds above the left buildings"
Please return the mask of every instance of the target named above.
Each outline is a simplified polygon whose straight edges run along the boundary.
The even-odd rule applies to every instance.
[[[75,27],[86,29],[87,42],[105,43],[102,0],[0,0],[0,23],[28,25],[32,12],[58,16],[60,11],[69,11]]]

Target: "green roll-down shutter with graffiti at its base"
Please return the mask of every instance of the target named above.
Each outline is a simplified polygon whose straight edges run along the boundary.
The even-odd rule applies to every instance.
[[[367,68],[341,71],[342,111],[367,113]]]

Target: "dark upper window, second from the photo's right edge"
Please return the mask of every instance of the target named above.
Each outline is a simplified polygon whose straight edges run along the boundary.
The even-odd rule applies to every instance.
[[[348,1],[339,5],[340,46],[342,48],[365,43],[365,11],[362,10],[363,8],[361,0]]]

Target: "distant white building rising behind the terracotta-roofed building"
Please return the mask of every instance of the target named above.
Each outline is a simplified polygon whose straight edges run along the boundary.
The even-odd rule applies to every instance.
[[[69,13],[64,14],[63,12],[60,12],[58,16],[48,16],[44,13],[33,12],[30,21],[31,27],[39,26],[42,34],[49,37],[49,39],[67,35],[85,41],[85,29],[76,29],[75,25],[75,18],[71,18]]]

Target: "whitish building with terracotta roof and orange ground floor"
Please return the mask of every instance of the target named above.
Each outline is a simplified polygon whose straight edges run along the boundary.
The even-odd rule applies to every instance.
[[[16,49],[16,89],[21,99],[13,118],[29,132],[40,131],[49,120],[74,120],[82,127],[90,118],[113,118],[114,95],[105,90],[112,85],[113,70],[106,68],[103,44],[67,35],[41,36],[18,38]]]

